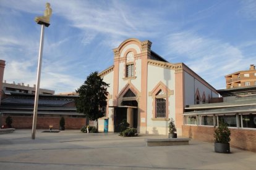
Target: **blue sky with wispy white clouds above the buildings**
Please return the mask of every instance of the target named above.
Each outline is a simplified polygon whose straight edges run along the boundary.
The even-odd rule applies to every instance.
[[[36,84],[45,3],[40,88],[74,92],[90,73],[113,65],[122,41],[150,40],[170,63],[185,63],[215,89],[224,76],[256,65],[256,0],[0,0],[0,59],[7,83]]]

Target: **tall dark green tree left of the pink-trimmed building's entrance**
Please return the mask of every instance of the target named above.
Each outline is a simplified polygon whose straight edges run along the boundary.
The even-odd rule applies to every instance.
[[[98,72],[91,73],[82,86],[76,90],[79,94],[75,105],[77,112],[85,114],[91,121],[97,121],[98,118],[104,116],[105,107],[107,105],[106,99],[108,96],[107,88],[109,84],[103,81],[103,78],[98,76]]]

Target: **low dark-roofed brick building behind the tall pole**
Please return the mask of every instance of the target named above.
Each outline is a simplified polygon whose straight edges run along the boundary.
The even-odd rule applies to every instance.
[[[40,94],[36,129],[59,128],[61,116],[65,118],[66,129],[80,129],[87,124],[85,115],[77,113],[75,98],[70,95]],[[7,116],[13,119],[12,126],[17,129],[32,129],[35,94],[11,92],[1,101],[0,125],[5,124]]]

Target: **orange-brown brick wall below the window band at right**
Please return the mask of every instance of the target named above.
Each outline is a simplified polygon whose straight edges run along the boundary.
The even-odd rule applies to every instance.
[[[256,129],[235,129],[231,131],[231,147],[256,152]],[[182,125],[182,136],[205,142],[214,142],[214,127]]]

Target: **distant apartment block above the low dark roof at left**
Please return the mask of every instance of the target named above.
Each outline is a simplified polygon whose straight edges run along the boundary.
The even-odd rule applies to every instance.
[[[35,94],[35,84],[33,87],[30,87],[29,84],[25,86],[24,83],[2,83],[2,91],[4,91],[5,94],[10,94],[11,92],[19,92],[19,93],[25,93],[25,94]],[[54,91],[48,90],[48,89],[40,89],[39,94],[54,94]]]

